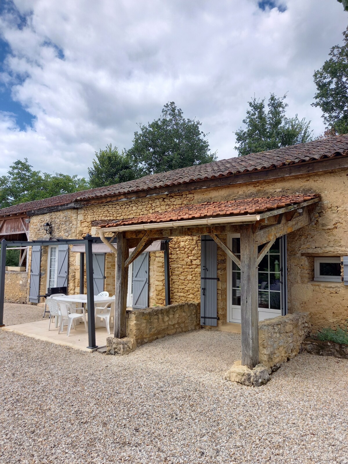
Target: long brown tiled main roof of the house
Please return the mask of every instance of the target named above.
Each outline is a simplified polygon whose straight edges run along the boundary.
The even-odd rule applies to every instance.
[[[155,188],[281,168],[282,166],[296,165],[334,156],[348,156],[348,135],[336,135],[335,137],[300,143],[291,147],[277,148],[276,150],[152,174],[110,187],[92,188],[83,192],[68,193],[44,200],[21,203],[0,210],[0,216],[25,213],[51,206],[67,205],[74,201],[124,195]]]

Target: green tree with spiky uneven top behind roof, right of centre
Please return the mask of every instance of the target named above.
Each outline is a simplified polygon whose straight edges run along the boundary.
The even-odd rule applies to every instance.
[[[304,143],[312,140],[309,122],[305,119],[285,116],[285,98],[277,98],[271,94],[267,109],[265,98],[257,100],[255,96],[248,102],[249,109],[243,123],[246,128],[236,131],[236,140],[239,144],[235,147],[238,156],[273,150],[274,148],[288,147],[296,143]]]

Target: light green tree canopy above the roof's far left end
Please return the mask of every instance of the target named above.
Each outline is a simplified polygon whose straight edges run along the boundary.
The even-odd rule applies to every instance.
[[[24,158],[24,161],[14,161],[7,175],[0,177],[0,208],[86,188],[89,186],[84,178],[34,171],[28,159]]]

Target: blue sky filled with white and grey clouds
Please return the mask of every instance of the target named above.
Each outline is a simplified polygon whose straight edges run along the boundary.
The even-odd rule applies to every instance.
[[[347,23],[335,0],[1,0],[0,175],[26,157],[87,176],[170,101],[219,159],[254,95],[287,92],[287,115],[322,134],[313,72]]]

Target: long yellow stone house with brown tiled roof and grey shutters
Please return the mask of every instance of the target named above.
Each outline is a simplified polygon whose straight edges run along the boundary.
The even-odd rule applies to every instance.
[[[28,252],[26,300],[36,303],[48,287],[65,284],[69,293],[81,291],[81,253],[71,245],[58,246],[56,238],[83,238],[99,231],[110,236],[127,230],[130,248],[139,243],[144,224],[158,228],[181,221],[183,227],[185,220],[214,218],[214,238],[213,228],[201,227],[193,234],[192,228],[198,226],[192,225],[185,229],[187,235],[163,226],[157,240],[149,240],[152,248],[144,248],[128,268],[127,306],[164,306],[168,265],[170,302],[200,302],[201,324],[221,328],[240,324],[243,304],[238,266],[242,223],[227,226],[225,219],[261,215],[253,222],[253,232],[267,226],[270,233],[279,233],[268,237],[268,249],[264,242],[258,245],[258,254],[263,252],[257,266],[259,320],[309,311],[313,329],[320,329],[348,319],[348,261],[343,265],[348,255],[347,186],[348,135],[340,135],[4,208],[0,234],[10,240],[12,233],[21,232],[8,226],[2,232],[1,226],[17,220],[28,224],[29,240],[52,238],[52,246]],[[50,226],[48,235],[45,224]],[[169,244],[166,263],[161,241]],[[95,291],[112,295],[115,254],[106,245],[98,246],[93,260]],[[39,267],[31,275],[33,253]],[[13,280],[7,273],[5,298],[15,301]]]

